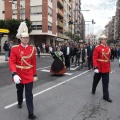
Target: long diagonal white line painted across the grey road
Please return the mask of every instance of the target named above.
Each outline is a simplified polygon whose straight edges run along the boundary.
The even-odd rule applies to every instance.
[[[69,81],[71,81],[71,80],[73,80],[73,79],[75,79],[75,78],[77,78],[77,77],[79,77],[79,76],[87,73],[87,72],[89,72],[89,70],[87,70],[87,71],[85,71],[85,72],[83,72],[83,73],[80,73],[80,74],[78,74],[78,75],[76,75],[76,76],[74,76],[74,77],[72,77],[72,78],[69,78],[69,79],[66,80],[66,81],[63,81],[63,82],[61,82],[61,83],[58,83],[58,84],[56,84],[56,85],[54,85],[54,86],[52,86],[52,87],[49,87],[49,88],[47,88],[47,89],[45,89],[45,90],[43,90],[43,91],[40,91],[40,92],[34,94],[33,97],[36,97],[36,96],[41,95],[41,94],[43,94],[43,93],[45,93],[45,92],[47,92],[47,91],[49,91],[49,90],[52,90],[52,89],[54,89],[54,88],[56,88],[56,87],[58,87],[58,86],[60,86],[60,85],[62,85],[62,84],[64,84],[64,83],[67,83],[67,82],[69,82]],[[23,99],[23,101],[25,101],[25,99]],[[9,108],[11,108],[11,107],[13,107],[13,106],[15,106],[15,105],[17,105],[17,102],[15,102],[15,103],[13,103],[13,104],[10,104],[10,105],[8,105],[8,106],[5,106],[4,109],[9,109]]]

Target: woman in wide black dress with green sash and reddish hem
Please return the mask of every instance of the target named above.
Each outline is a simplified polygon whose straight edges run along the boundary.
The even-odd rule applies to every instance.
[[[51,54],[54,58],[54,61],[51,65],[50,72],[58,75],[63,75],[66,72],[66,67],[63,62],[63,52],[61,52],[60,47],[58,47],[57,51],[51,51]]]

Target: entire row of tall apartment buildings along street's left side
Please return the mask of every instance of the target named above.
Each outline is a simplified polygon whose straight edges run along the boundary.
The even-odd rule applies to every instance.
[[[1,0],[0,19],[29,19],[30,42],[52,44],[71,40],[68,32],[85,39],[81,0]],[[69,24],[73,21],[73,24]]]

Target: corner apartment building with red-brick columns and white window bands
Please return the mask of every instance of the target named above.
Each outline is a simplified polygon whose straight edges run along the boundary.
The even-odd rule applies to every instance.
[[[30,19],[30,42],[55,43],[57,36],[56,0],[4,0],[5,19]]]

